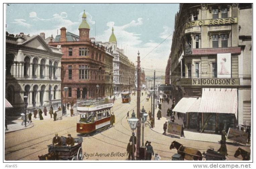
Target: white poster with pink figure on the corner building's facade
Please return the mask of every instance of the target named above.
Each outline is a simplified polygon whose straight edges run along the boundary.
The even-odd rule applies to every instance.
[[[217,54],[217,77],[231,78],[231,53]]]

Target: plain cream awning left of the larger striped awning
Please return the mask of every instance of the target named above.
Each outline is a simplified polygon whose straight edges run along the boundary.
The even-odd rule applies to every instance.
[[[198,112],[201,98],[197,97],[183,97],[173,108],[172,111],[181,113]]]

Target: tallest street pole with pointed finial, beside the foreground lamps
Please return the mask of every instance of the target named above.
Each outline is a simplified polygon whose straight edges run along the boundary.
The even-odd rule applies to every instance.
[[[141,103],[141,70],[140,70],[140,52],[138,51],[137,61],[137,118],[139,119],[137,125],[137,143],[136,143],[136,160],[140,160],[140,138],[141,138],[141,118],[140,118],[140,103]]]

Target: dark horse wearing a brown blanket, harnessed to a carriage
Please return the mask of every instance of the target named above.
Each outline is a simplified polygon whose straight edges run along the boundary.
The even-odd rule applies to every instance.
[[[177,149],[178,154],[182,155],[183,159],[186,160],[202,160],[202,153],[197,150],[197,149],[193,149],[193,148],[189,148],[189,147],[184,147],[182,144],[173,141],[170,145],[170,150],[171,149]]]

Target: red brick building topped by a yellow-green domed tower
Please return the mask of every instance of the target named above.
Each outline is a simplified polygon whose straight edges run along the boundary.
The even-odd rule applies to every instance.
[[[67,102],[77,99],[96,98],[99,85],[98,97],[105,96],[105,58],[111,57],[106,48],[90,40],[90,26],[86,21],[86,14],[82,16],[82,23],[79,26],[79,36],[66,32],[66,28],[60,29],[55,41],[50,41],[51,46],[62,48],[61,58],[61,81],[62,98]]]

